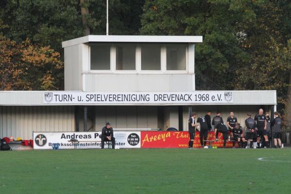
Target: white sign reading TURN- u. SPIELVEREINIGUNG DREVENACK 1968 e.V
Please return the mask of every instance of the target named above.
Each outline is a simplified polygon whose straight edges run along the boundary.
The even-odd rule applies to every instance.
[[[163,93],[45,92],[44,104],[177,104],[232,103],[229,91]]]

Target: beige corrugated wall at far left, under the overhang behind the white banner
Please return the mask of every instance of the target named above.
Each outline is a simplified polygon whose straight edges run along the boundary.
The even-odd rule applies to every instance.
[[[32,139],[32,131],[75,131],[73,106],[0,106],[0,138]]]

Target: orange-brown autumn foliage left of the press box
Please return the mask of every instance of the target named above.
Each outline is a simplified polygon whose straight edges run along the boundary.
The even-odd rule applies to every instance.
[[[29,39],[21,43],[0,34],[0,90],[58,90],[64,63],[60,53]]]

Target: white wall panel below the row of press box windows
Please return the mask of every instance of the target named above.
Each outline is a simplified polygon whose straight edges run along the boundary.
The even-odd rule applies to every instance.
[[[86,92],[191,92],[194,75],[85,74]]]

